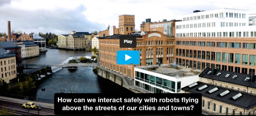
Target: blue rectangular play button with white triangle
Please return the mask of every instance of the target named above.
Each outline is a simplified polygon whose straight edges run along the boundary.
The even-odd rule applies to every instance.
[[[118,65],[138,65],[139,64],[139,51],[117,51],[117,64]]]

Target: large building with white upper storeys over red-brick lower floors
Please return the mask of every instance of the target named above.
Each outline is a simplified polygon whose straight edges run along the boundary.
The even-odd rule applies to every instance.
[[[175,63],[249,74],[255,72],[256,27],[248,10],[217,9],[184,14],[176,22]]]

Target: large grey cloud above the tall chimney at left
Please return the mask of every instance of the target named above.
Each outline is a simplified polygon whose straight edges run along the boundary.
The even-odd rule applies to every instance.
[[[7,21],[11,21],[11,30],[22,30],[26,33],[31,31],[52,32],[57,35],[71,33],[76,31],[95,31],[106,28],[104,24],[91,22],[86,19],[83,11],[86,7],[79,5],[73,9],[64,9],[55,7],[55,9],[21,9],[0,7],[1,32],[7,32]]]

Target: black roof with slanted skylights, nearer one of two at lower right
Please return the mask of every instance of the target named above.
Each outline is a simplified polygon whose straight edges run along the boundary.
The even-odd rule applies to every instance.
[[[182,90],[188,91],[189,93],[201,93],[203,97],[221,101],[227,104],[231,104],[237,107],[249,109],[256,106],[256,96],[241,91],[235,91],[219,86],[196,82],[191,86],[183,87]],[[205,86],[206,85],[206,86]],[[198,88],[201,87],[201,90]],[[228,90],[228,91],[227,91]],[[240,93],[240,94],[239,94]],[[239,95],[239,96],[238,96]],[[241,95],[241,96],[240,96]]]

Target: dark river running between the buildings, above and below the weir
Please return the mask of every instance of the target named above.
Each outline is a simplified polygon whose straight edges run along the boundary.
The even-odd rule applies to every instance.
[[[70,56],[91,56],[88,51],[66,51],[59,49],[48,49],[39,57],[25,59],[22,63],[27,64],[57,64],[61,63]],[[65,90],[65,93],[132,93],[108,79],[104,79],[92,71],[93,67],[81,67],[75,71],[61,68],[46,77],[40,83],[36,97],[42,99],[54,99],[55,93]],[[42,91],[42,88],[45,88]]]

